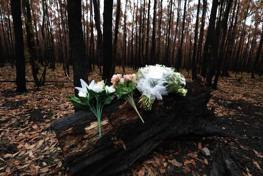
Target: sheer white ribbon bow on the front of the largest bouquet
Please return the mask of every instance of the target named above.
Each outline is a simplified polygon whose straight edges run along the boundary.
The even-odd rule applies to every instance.
[[[161,95],[168,95],[166,91],[166,86],[163,84],[159,83],[157,85],[153,85],[154,87],[151,86],[150,80],[146,79],[140,79],[138,81],[138,85],[136,88],[142,92],[142,95],[146,95],[147,97],[150,96],[150,94],[154,95],[154,99],[157,97],[158,100],[162,100],[163,97]],[[151,99],[151,97],[149,97]],[[153,97],[152,97],[153,98]],[[154,100],[152,99],[152,100]]]

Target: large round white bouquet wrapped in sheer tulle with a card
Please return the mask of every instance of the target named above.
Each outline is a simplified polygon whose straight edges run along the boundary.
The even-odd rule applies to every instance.
[[[182,87],[186,85],[186,79],[181,73],[174,72],[174,70],[159,64],[146,65],[138,70],[136,88],[142,92],[139,100],[142,109],[151,110],[153,101],[156,98],[161,100],[162,95],[168,95],[168,93],[186,95],[187,89]]]

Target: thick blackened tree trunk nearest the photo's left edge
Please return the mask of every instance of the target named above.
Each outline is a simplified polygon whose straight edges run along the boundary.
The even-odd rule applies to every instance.
[[[24,56],[21,2],[10,0],[15,33],[16,92],[26,92],[26,65]]]

